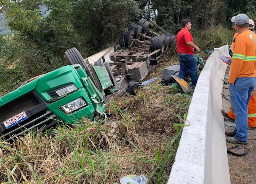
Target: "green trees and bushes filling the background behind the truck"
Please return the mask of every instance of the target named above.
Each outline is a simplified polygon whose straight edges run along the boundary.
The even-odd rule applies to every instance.
[[[230,18],[238,13],[255,20],[256,2],[1,0],[1,22],[8,24],[13,34],[0,38],[0,81],[4,86],[0,90],[8,92],[22,81],[68,64],[64,52],[72,47],[78,48],[84,58],[109,47],[118,42],[120,32],[131,29],[142,15],[172,34],[180,30],[182,19],[190,18],[194,42],[204,50],[231,42]],[[0,32],[10,34],[3,26]]]

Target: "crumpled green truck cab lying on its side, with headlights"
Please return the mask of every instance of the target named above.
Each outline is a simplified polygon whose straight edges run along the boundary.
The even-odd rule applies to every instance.
[[[58,121],[93,119],[106,109],[104,95],[112,86],[104,67],[93,66],[102,91],[80,64],[44,74],[0,98],[0,139],[10,140],[32,128],[48,128]]]

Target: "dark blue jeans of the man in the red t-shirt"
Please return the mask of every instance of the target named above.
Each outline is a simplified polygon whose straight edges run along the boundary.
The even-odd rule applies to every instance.
[[[196,65],[196,57],[193,54],[178,54],[178,58],[180,61],[180,73],[179,77],[184,79],[187,73],[189,72],[189,76],[193,86],[196,86],[197,83],[197,65]]]

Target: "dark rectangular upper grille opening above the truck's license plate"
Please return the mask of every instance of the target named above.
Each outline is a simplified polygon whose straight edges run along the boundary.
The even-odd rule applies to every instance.
[[[35,96],[32,93],[29,93],[26,96],[7,104],[6,106],[2,106],[0,108],[0,124],[2,124],[4,120],[12,118],[20,112],[26,112],[38,104],[39,102],[36,100]]]

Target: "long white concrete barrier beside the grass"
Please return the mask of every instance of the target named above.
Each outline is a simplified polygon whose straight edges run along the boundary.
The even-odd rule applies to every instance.
[[[222,109],[222,86],[229,56],[222,46],[208,58],[189,106],[168,184],[230,184]]]

